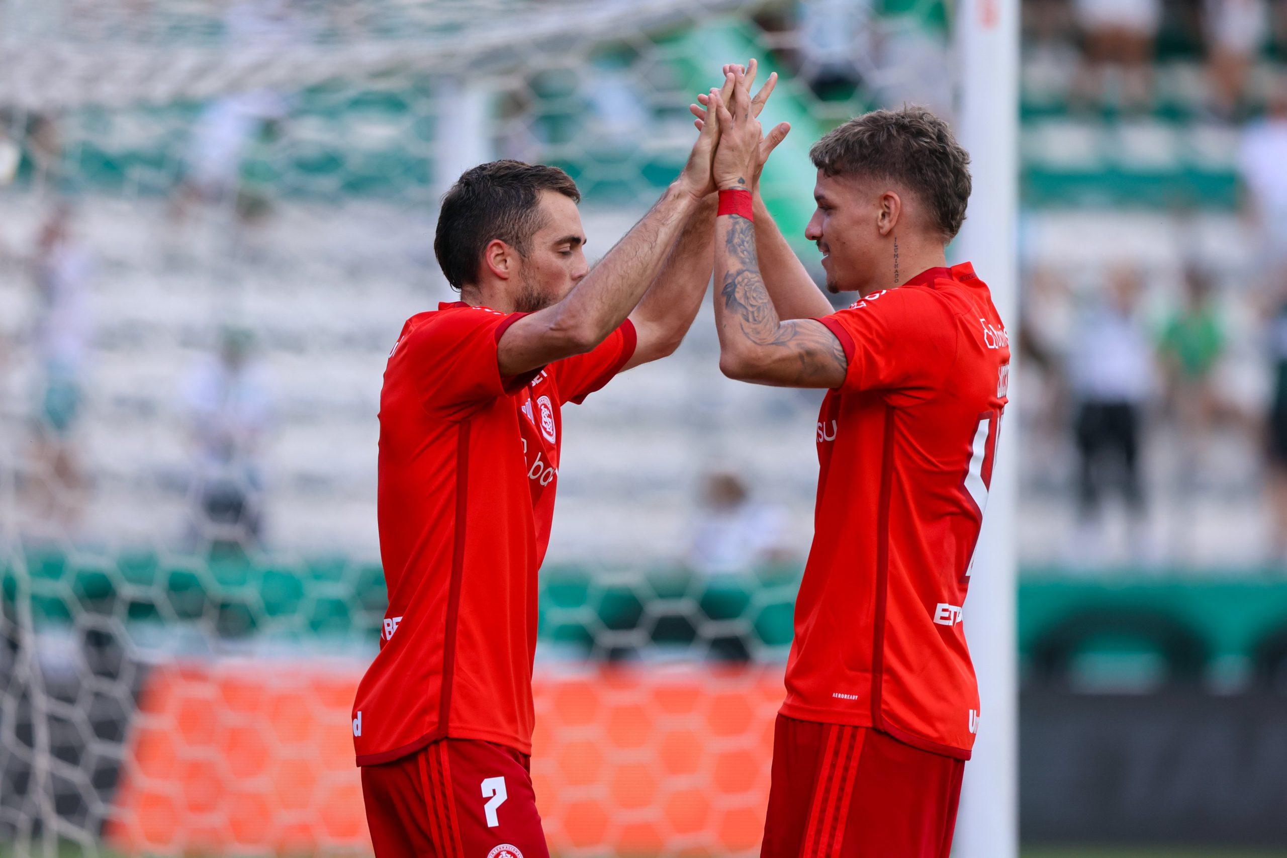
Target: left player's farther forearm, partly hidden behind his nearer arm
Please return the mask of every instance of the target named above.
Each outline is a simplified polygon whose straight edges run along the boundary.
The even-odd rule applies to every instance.
[[[678,238],[644,295],[631,320],[642,336],[646,331],[653,352],[649,359],[674,351],[701,307],[713,265],[712,239],[716,229],[716,194],[708,194],[689,216]]]

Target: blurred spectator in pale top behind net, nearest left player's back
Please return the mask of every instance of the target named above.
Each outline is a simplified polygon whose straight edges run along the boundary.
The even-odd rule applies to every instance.
[[[218,356],[196,367],[184,388],[196,446],[189,495],[196,535],[223,548],[254,545],[263,530],[259,457],[270,405],[251,346],[247,331],[223,331]]]

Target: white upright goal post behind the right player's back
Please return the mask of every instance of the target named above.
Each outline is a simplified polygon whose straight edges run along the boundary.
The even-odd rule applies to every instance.
[[[960,67],[958,132],[970,153],[974,192],[954,246],[992,289],[1010,334],[1010,410],[1018,373],[1018,68],[1019,0],[961,0],[956,17]],[[956,819],[959,858],[1018,854],[1018,682],[1014,516],[1018,421],[1003,421],[976,554],[965,634],[982,696],[974,756]]]

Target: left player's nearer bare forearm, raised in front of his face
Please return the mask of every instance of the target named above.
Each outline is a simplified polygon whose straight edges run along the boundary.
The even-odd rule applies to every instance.
[[[578,332],[589,347],[602,342],[638,305],[656,279],[680,230],[700,199],[680,183],[662,198],[557,305],[557,327]]]

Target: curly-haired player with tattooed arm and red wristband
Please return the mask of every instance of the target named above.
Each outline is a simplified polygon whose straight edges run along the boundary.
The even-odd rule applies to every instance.
[[[979,723],[961,626],[1006,404],[1009,342],[987,286],[945,246],[969,156],[929,112],[857,117],[811,151],[834,313],[755,184],[761,139],[740,67],[718,117],[719,367],[820,387],[813,547],[773,738],[764,858],[947,858]]]

